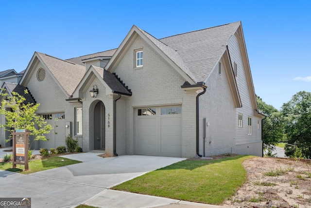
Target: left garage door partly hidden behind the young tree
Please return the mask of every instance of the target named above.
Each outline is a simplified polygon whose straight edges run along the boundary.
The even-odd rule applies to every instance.
[[[47,139],[49,139],[48,141],[40,141],[40,148],[47,148],[50,150],[51,148],[56,149],[59,146],[66,146],[65,113],[47,113],[41,114],[41,116],[44,117],[47,124],[50,124],[53,129],[49,134],[46,134]]]

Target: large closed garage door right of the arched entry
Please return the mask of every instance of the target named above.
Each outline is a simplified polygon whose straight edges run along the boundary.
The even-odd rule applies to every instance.
[[[136,109],[137,154],[181,157],[181,106]]]

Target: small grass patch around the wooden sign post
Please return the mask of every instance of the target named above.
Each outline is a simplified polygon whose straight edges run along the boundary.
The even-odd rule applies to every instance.
[[[70,160],[68,158],[54,156],[46,157],[38,160],[29,161],[28,167],[29,170],[24,171],[24,165],[16,165],[16,168],[12,168],[12,162],[9,163],[0,163],[0,170],[7,170],[12,172],[19,172],[23,174],[30,174],[42,170],[49,170],[53,168],[58,168],[62,166],[72,165],[76,163],[81,163],[81,161]]]

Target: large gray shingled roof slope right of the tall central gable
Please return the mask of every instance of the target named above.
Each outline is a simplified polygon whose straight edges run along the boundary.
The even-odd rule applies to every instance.
[[[163,45],[172,50],[170,57],[195,82],[205,81],[217,61],[225,51],[228,40],[241,25],[241,21],[221,26],[161,38]],[[158,47],[161,44],[156,44]],[[172,53],[176,51],[176,53]],[[183,61],[183,64],[180,63]],[[184,69],[186,67],[186,69]]]

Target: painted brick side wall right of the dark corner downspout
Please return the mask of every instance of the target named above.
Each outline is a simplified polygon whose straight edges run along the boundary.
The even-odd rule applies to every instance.
[[[219,75],[218,65],[207,79],[207,92],[200,96],[200,153],[204,154],[204,123],[209,124],[205,141],[205,155],[235,153],[235,105],[221,61],[222,71]]]

